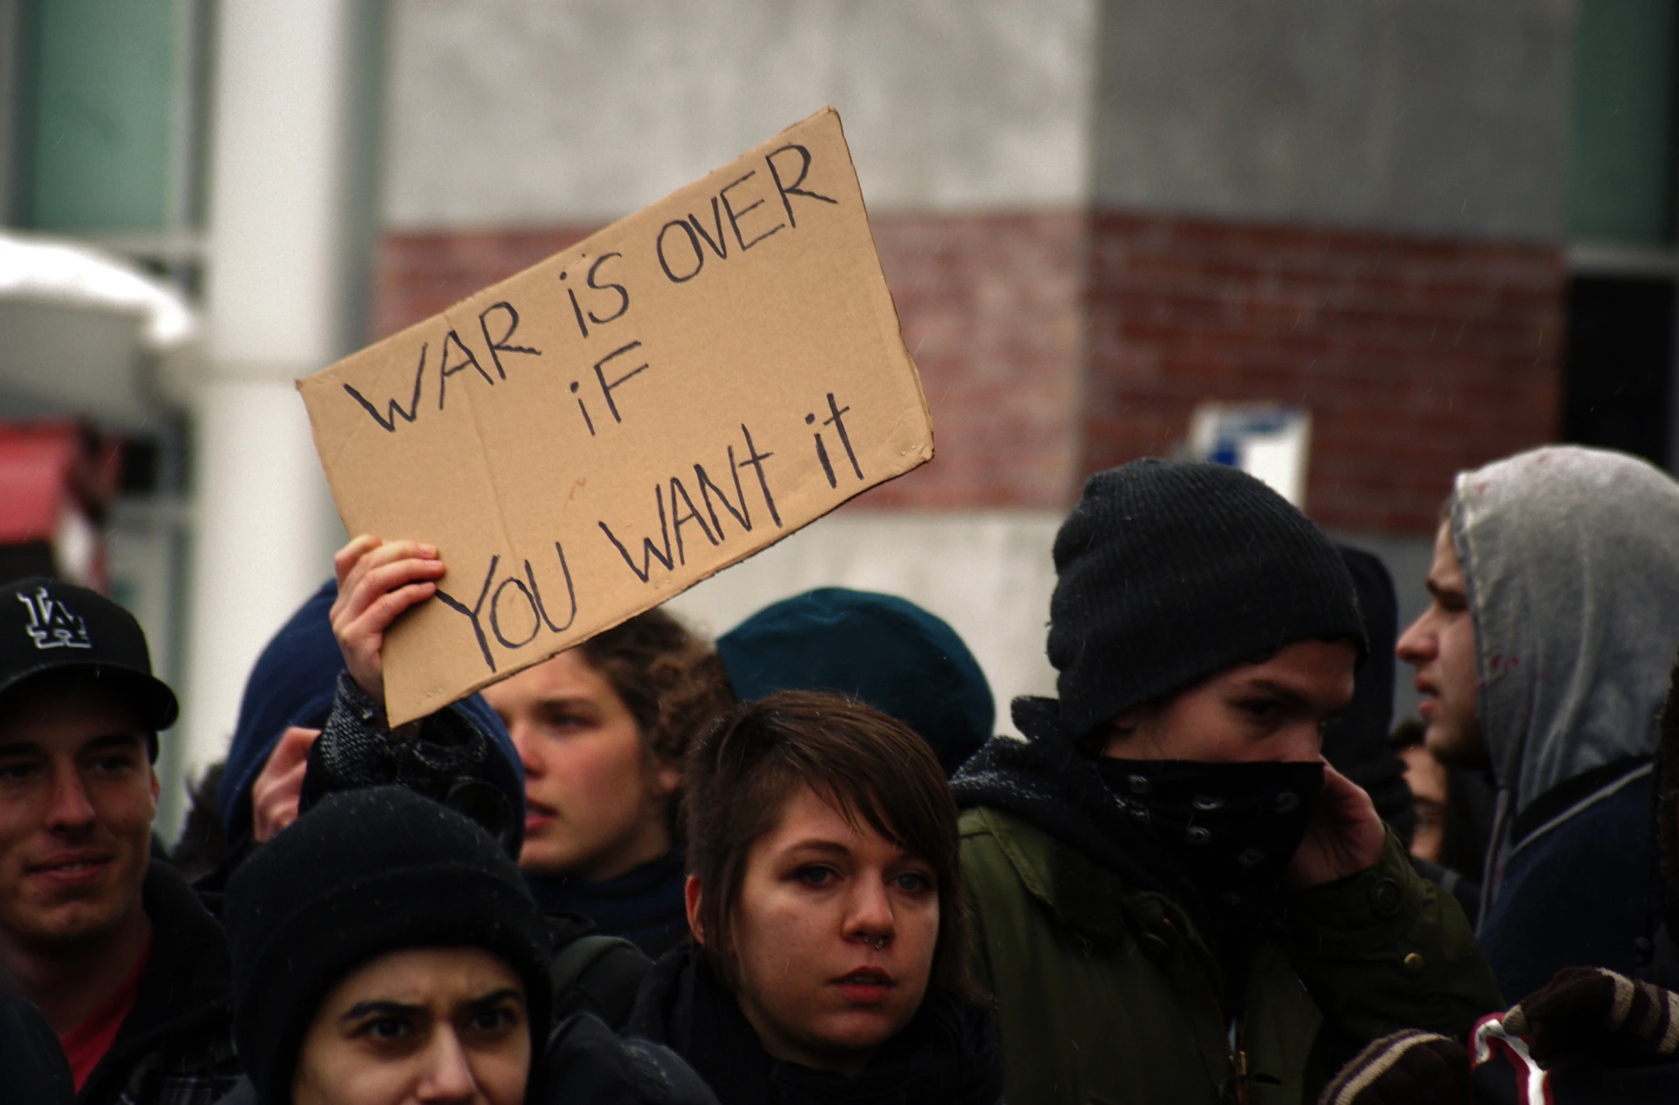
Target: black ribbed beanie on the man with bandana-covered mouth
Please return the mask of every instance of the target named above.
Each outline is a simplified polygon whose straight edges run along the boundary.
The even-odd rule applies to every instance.
[[[1306,516],[1236,469],[1133,460],[1085,482],[1054,539],[1049,663],[1078,739],[1313,638],[1367,652],[1352,576]]]

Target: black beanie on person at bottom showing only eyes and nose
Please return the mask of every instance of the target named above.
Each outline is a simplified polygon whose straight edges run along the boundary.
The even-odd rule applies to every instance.
[[[542,912],[465,816],[400,786],[341,791],[262,845],[227,883],[233,1040],[262,1105],[287,1105],[327,991],[386,952],[482,947],[524,981],[532,1055],[552,994]]]

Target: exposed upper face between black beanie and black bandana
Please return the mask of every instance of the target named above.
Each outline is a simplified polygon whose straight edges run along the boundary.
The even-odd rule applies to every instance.
[[[1157,710],[1122,714],[1103,749],[1115,759],[1316,762],[1321,725],[1353,700],[1350,642],[1295,642],[1259,663],[1219,672]]]

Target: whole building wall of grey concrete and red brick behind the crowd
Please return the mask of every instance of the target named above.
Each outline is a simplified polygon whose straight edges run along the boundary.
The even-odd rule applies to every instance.
[[[1572,25],[1572,0],[393,0],[378,333],[833,104],[939,460],[672,608],[715,633],[813,586],[903,594],[1007,731],[1054,685],[1080,477],[1169,452],[1202,398],[1315,408],[1308,509],[1415,616],[1451,448],[1553,423]]]

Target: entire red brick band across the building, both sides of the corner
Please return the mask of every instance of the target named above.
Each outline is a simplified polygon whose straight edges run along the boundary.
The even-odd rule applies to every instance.
[[[868,507],[1064,507],[1200,400],[1313,415],[1308,512],[1425,534],[1452,472],[1551,440],[1551,247],[1073,212],[873,220],[939,457]],[[388,334],[591,228],[384,237]]]

